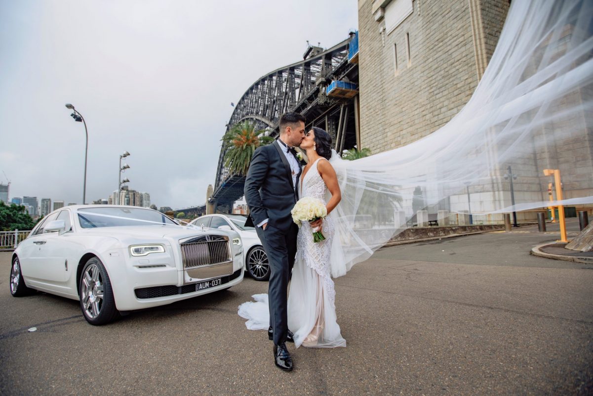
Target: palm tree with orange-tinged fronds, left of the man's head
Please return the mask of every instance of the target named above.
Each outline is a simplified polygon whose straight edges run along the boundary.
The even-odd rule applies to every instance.
[[[253,153],[260,145],[271,143],[274,138],[264,135],[263,129],[255,130],[255,123],[236,123],[222,137],[225,147],[225,166],[230,173],[247,175]]]

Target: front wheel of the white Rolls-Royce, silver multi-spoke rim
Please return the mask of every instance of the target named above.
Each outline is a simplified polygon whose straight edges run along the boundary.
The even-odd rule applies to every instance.
[[[90,258],[84,265],[79,290],[82,314],[91,325],[104,325],[119,316],[109,275],[100,259]]]

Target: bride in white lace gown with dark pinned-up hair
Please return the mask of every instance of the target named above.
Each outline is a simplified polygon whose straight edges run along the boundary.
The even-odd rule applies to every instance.
[[[336,172],[329,161],[331,137],[323,129],[313,127],[305,134],[300,148],[306,151],[309,163],[298,180],[298,196],[326,202],[328,216],[311,223],[304,221],[298,231],[297,257],[288,293],[288,328],[294,333],[296,347],[345,347],[346,340],[336,322],[336,291],[330,277],[331,260],[337,259],[331,254],[336,224],[330,213],[342,199]],[[318,226],[326,239],[315,243],[313,231]],[[253,297],[256,302],[241,304],[238,313],[248,319],[246,325],[250,330],[266,329],[270,320],[267,294]]]

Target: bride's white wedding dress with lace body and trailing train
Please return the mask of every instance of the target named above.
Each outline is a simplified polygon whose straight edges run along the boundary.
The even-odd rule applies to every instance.
[[[317,170],[318,159],[299,180],[299,197],[326,202],[326,183]],[[327,203],[327,202],[326,202]],[[334,221],[323,221],[325,240],[313,242],[309,223],[303,222],[297,236],[297,257],[288,293],[288,328],[294,332],[295,346],[345,347],[336,322],[336,291],[331,280],[331,246],[336,232]],[[255,294],[256,302],[239,306],[239,315],[248,319],[250,330],[267,329],[270,322],[267,294]]]

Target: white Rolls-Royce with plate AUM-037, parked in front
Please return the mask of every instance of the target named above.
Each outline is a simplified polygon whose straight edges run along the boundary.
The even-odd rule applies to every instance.
[[[228,289],[243,280],[237,233],[176,224],[141,207],[72,205],[40,221],[12,255],[10,292],[79,300],[90,324]]]

